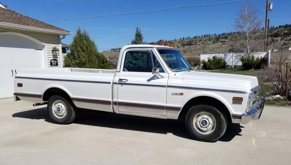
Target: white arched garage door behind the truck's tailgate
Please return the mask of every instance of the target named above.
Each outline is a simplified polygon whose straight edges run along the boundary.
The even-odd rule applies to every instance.
[[[43,51],[32,49],[32,47],[35,47],[33,46],[35,43],[33,45],[27,44],[27,42],[33,41],[27,38],[21,38],[22,36],[16,36],[20,37],[20,39],[17,39],[13,34],[5,35],[4,37],[10,41],[10,45],[0,42],[0,98],[13,97],[14,77],[17,75],[18,69],[44,67]],[[4,37],[0,34],[0,41]],[[11,42],[12,39],[14,42]],[[23,41],[23,39],[27,41],[25,41],[24,45],[21,45],[19,40]],[[1,47],[3,45],[9,47]],[[25,46],[28,48],[23,48]]]

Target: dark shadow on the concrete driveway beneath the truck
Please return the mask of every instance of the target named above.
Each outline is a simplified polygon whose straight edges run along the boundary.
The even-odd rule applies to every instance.
[[[46,107],[14,113],[12,117],[20,117],[34,120],[44,119],[46,122],[53,123],[53,121],[49,118],[47,114]],[[187,132],[183,119],[164,120],[152,117],[123,115],[103,111],[92,111],[86,113],[78,113],[77,118],[74,120],[73,123],[115,129],[151,132],[157,134],[172,133],[175,136],[192,139],[192,137]],[[239,134],[242,131],[241,128],[244,127],[240,126],[239,124],[228,123],[227,130],[225,134],[219,139],[219,141],[228,142],[237,135],[241,136],[241,134]]]

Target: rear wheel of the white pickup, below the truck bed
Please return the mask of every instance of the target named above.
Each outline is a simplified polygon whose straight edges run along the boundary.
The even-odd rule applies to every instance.
[[[53,108],[54,103],[61,103],[58,105],[61,105],[60,107],[64,107],[65,111],[61,111],[61,113],[57,113],[56,111],[54,111],[54,109],[56,109]],[[77,116],[77,107],[75,107],[73,103],[71,103],[64,97],[57,95],[51,96],[49,98],[49,101],[47,103],[47,111],[49,113],[49,117],[57,124],[68,124],[74,121]]]

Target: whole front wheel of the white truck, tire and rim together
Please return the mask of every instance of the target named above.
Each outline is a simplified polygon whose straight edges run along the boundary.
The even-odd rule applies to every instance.
[[[197,105],[189,109],[186,119],[189,134],[199,141],[217,141],[226,131],[227,118],[213,106]]]

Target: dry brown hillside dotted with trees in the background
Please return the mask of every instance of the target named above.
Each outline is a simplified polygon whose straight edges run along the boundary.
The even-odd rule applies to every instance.
[[[199,55],[202,53],[228,52],[232,42],[235,42],[237,33],[221,33],[206,34],[194,37],[183,37],[170,41],[160,40],[158,42],[172,43],[176,48],[180,49],[184,56]],[[285,24],[279,27],[270,27],[269,29],[269,45],[268,49],[278,49],[291,46],[291,25]],[[118,58],[120,48],[103,51],[103,55],[107,58]],[[263,48],[261,48],[263,50]]]

